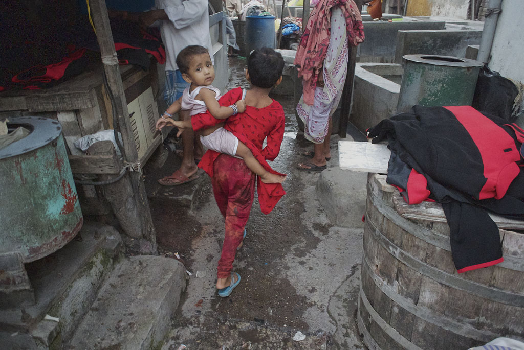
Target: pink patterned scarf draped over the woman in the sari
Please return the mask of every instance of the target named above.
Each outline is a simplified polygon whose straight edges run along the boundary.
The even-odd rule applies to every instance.
[[[304,102],[312,106],[318,74],[324,63],[330,38],[330,10],[339,6],[346,18],[347,41],[357,46],[364,41],[362,17],[353,0],[320,0],[311,12],[294,59],[303,78]]]

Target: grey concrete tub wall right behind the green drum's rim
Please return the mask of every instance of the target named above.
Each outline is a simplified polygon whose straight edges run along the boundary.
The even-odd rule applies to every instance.
[[[395,63],[407,54],[466,57],[466,48],[481,42],[482,30],[399,30]]]

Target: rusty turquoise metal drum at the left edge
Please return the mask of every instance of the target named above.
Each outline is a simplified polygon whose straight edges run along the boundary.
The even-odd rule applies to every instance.
[[[0,149],[0,254],[19,253],[27,263],[68,243],[83,217],[60,123],[18,117],[7,125],[30,133]]]

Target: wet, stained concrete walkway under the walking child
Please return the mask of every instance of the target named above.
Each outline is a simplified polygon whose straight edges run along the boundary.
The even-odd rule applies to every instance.
[[[248,87],[244,66],[244,60],[231,59],[228,89]],[[163,350],[181,344],[194,349],[365,348],[356,327],[363,224],[331,224],[315,190],[320,174],[295,168],[305,160],[299,154],[312,144],[298,129],[293,98],[272,97],[286,113],[280,155],[271,165],[288,174],[287,194],[267,216],[255,194],[244,246],[234,263],[242,280],[230,297],[217,296],[215,289],[224,221],[209,177],[158,188],[156,179],[180,164],[172,152],[161,170],[146,174],[159,251],[173,258],[178,253],[192,273]],[[338,140],[332,138],[329,167],[338,166]],[[193,195],[190,209],[180,197]],[[305,340],[292,340],[297,331]]]

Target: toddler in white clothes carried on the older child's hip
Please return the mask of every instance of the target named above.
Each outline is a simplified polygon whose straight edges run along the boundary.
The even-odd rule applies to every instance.
[[[220,98],[220,91],[211,86],[215,78],[215,70],[208,49],[198,45],[184,48],[177,56],[177,65],[184,80],[191,85],[184,90],[182,97],[174,101],[160,116],[159,121],[157,121],[158,130],[166,125],[173,125],[180,129],[177,134],[179,136],[184,128],[191,128],[191,120],[176,121],[171,119],[173,114],[181,109],[190,110],[191,116],[209,110],[210,114],[216,119],[227,119],[245,111],[246,106],[243,99],[239,99],[235,104],[228,107],[220,106],[217,101]],[[224,123],[219,123],[201,131],[200,140],[206,148],[241,157],[249,170],[257,174],[263,183],[282,183],[286,179],[285,176],[272,174],[265,170],[249,148],[238,141],[238,138],[231,131],[225,130],[223,125]]]

